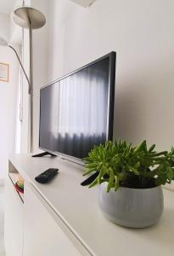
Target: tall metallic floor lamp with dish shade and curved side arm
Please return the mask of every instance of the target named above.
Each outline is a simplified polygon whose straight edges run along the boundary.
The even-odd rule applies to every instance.
[[[46,19],[45,16],[38,11],[37,9],[33,9],[31,7],[20,7],[15,9],[12,14],[12,19],[14,23],[23,28],[29,29],[29,44],[30,44],[30,75],[29,78],[25,73],[25,69],[20,61],[20,57],[17,54],[16,50],[4,40],[0,39],[1,45],[8,45],[9,48],[14,50],[15,55],[20,62],[20,67],[22,68],[25,78],[27,79],[29,85],[29,95],[30,95],[30,152],[33,152],[33,56],[32,56],[32,30],[41,28],[45,25]]]

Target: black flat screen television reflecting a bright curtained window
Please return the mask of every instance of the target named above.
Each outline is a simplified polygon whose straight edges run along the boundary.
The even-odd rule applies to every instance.
[[[112,140],[115,52],[40,90],[39,148],[81,160],[94,145]]]

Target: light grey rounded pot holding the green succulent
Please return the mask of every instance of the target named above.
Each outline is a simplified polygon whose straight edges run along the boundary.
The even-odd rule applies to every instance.
[[[144,228],[155,224],[163,212],[161,187],[151,189],[119,188],[106,192],[108,183],[99,189],[99,206],[106,218],[129,228]]]

